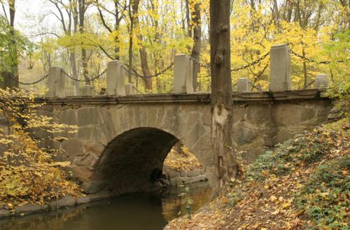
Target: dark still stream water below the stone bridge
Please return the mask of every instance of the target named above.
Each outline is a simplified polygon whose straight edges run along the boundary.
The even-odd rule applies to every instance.
[[[211,199],[211,189],[206,182],[190,187],[194,201],[191,210],[196,211]],[[178,196],[182,189],[127,194],[75,208],[0,220],[0,230],[160,230],[180,212],[184,214]]]

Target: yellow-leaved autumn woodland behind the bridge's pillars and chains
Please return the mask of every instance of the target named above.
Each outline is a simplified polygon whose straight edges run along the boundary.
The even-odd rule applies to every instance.
[[[292,55],[295,89],[307,87],[318,73],[349,88],[344,62],[349,52],[349,1],[232,0],[232,69],[263,57],[272,45],[287,43]],[[197,91],[210,91],[209,0],[0,0],[0,72],[34,82],[61,66],[73,78],[87,80],[96,92],[105,78],[89,82],[120,60],[144,78],[128,73],[127,82],[141,93],[172,91],[171,65],[186,53],[195,64]],[[34,12],[32,11],[34,9]],[[342,62],[338,62],[342,60]],[[325,62],[319,64],[318,62]],[[232,71],[238,78],[268,89],[269,58]],[[159,74],[161,73],[161,74]],[[147,76],[158,75],[157,78]],[[45,81],[22,85],[45,91]],[[235,89],[235,87],[233,87]]]

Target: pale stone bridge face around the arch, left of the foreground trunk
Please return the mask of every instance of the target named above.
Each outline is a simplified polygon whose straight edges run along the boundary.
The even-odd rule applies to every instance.
[[[159,136],[160,140],[167,137],[169,144],[166,146],[180,140],[206,168],[209,183],[215,186],[210,106],[192,103],[89,105],[62,108],[55,112],[55,116],[59,122],[78,126],[78,133],[69,134],[69,140],[60,143],[59,148],[65,150],[61,157],[72,163],[69,168],[73,173],[72,178],[87,193],[99,192],[108,187],[102,183],[103,171],[100,167],[108,159],[104,157],[106,151],[111,146],[117,146],[118,149],[118,143],[128,143],[125,146],[136,148],[134,145],[138,143],[127,137],[137,136],[137,133],[141,133],[140,137]],[[156,142],[158,138],[151,138],[148,142],[150,141]],[[168,148],[170,150],[171,147]],[[118,168],[115,168],[111,173],[123,172],[118,172]],[[124,190],[128,192],[127,189]]]

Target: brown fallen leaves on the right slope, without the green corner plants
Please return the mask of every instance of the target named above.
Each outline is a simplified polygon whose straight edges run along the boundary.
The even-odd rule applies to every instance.
[[[339,123],[342,127],[349,127],[342,125],[342,122]],[[310,229],[313,222],[307,219],[307,212],[297,206],[297,194],[307,189],[307,182],[311,180],[318,166],[349,154],[349,132],[347,130],[335,131],[336,126],[339,124],[315,129],[313,133],[298,136],[285,145],[281,145],[279,154],[286,157],[288,161],[274,161],[277,159],[276,155],[272,157],[270,155],[265,158],[265,161],[262,161],[265,164],[255,162],[253,169],[258,168],[259,170],[253,171],[251,178],[244,181],[232,181],[232,185],[221,192],[209,206],[193,215],[191,222],[180,218],[170,222],[167,229]],[[323,129],[329,130],[323,132]],[[317,140],[314,141],[314,138]],[[268,167],[268,164],[271,167]],[[247,173],[249,170],[252,169],[248,168]],[[338,174],[346,177],[349,175],[349,170],[343,167]],[[328,178],[329,173],[326,175]],[[262,177],[263,180],[261,180]],[[344,194],[342,195],[332,194],[334,199],[346,198]],[[328,201],[330,192],[316,191],[314,196],[319,197],[320,202]],[[305,199],[313,198],[305,197]],[[233,200],[235,202],[232,202]],[[221,215],[204,218],[204,214],[208,213],[221,213]],[[349,220],[349,215],[345,215],[344,218]],[[346,221],[335,222],[335,224],[346,227]],[[318,229],[327,228],[323,225]]]

